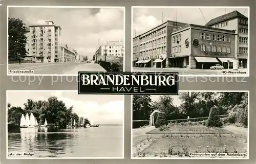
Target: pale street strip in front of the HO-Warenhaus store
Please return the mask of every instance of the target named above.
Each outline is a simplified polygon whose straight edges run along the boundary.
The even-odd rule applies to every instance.
[[[133,72],[178,72],[179,75],[237,75],[247,76],[248,70],[246,68],[235,71],[233,69],[222,69],[222,70],[211,70],[211,69],[189,69],[189,68],[144,68],[144,67],[133,67]],[[225,72],[226,71],[226,72]],[[228,72],[231,73],[228,73]],[[222,73],[223,72],[223,73]]]

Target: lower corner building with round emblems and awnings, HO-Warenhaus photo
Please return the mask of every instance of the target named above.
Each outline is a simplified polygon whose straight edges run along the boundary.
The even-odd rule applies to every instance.
[[[199,25],[186,25],[172,31],[169,67],[209,68],[221,63],[232,66],[235,33]]]

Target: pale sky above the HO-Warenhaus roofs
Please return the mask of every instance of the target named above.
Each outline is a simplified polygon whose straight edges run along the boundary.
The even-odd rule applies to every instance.
[[[133,37],[161,25],[162,20],[204,26],[210,19],[235,10],[248,17],[248,8],[133,8]]]

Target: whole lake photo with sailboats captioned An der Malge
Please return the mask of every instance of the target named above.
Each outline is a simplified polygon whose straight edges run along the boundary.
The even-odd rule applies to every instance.
[[[7,158],[123,158],[122,95],[7,90]]]

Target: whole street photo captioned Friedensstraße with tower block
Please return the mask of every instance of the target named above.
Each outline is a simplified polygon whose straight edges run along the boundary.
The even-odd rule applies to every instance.
[[[7,6],[7,75],[123,72],[124,7]]]

